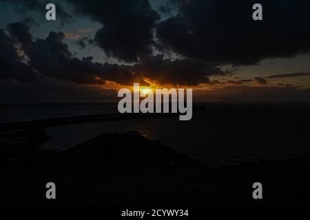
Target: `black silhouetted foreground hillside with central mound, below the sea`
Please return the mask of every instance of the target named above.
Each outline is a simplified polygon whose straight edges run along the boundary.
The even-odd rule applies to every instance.
[[[138,133],[103,134],[61,153],[3,166],[3,205],[309,205],[310,156],[207,168]],[[45,184],[56,199],[45,199]],[[260,181],[263,199],[252,198]]]

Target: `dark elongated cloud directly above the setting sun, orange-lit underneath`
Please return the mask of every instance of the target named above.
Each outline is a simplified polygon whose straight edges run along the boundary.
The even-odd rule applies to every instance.
[[[143,58],[139,64],[134,65],[133,70],[140,76],[172,85],[209,84],[208,76],[229,74],[205,62],[187,58],[171,61],[163,58],[163,55]]]

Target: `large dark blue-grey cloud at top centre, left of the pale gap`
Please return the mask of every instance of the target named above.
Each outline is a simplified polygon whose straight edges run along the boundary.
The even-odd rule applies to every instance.
[[[107,56],[123,61],[138,61],[152,54],[153,30],[160,19],[158,12],[145,0],[103,0],[72,2],[76,14],[86,15],[103,24],[94,41]]]

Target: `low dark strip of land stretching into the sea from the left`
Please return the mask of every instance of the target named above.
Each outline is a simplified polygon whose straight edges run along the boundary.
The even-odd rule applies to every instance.
[[[203,111],[205,106],[194,106],[193,112]],[[133,120],[137,118],[175,117],[179,113],[116,113],[99,115],[81,115],[63,118],[47,118],[27,122],[5,122],[0,124],[0,165],[10,160],[41,155],[39,146],[49,140],[45,129],[52,126],[82,124],[89,122],[106,122]],[[16,151],[19,149],[19,151]]]

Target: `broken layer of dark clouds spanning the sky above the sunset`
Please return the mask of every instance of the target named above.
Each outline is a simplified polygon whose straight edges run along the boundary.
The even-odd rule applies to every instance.
[[[46,1],[0,1],[45,12]],[[258,87],[255,89],[259,91],[279,87],[274,91],[299,94],[296,85],[278,83],[276,79],[310,76],[309,72],[296,71],[233,79],[228,77],[234,76],[233,72],[221,68],[309,54],[310,1],[262,0],[263,21],[251,19],[251,6],[256,1],[247,0],[168,0],[159,7],[160,11],[154,10],[147,0],[65,2],[72,7],[72,14],[96,21],[101,28],[85,29],[94,31],[94,36],[87,37],[82,32],[47,30],[44,38],[35,39],[30,25],[39,24],[31,17],[8,23],[0,29],[0,79],[44,83],[53,78],[99,86],[110,81],[119,85],[148,85],[148,80],[152,80],[163,85],[227,87],[225,91],[234,93],[236,88],[253,91],[252,87]],[[61,5],[57,7],[57,16],[64,24],[74,22],[67,10]],[[160,12],[172,17],[161,20]],[[80,50],[87,47],[87,42],[100,47],[108,58],[118,62],[98,63],[92,56],[78,58],[65,38]],[[213,76],[225,80],[210,80]]]

